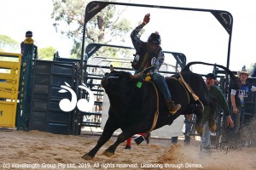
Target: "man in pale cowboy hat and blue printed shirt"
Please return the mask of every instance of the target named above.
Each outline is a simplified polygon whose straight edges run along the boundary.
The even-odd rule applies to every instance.
[[[235,117],[235,133],[238,133],[241,124],[244,121],[244,112],[245,112],[245,99],[248,96],[248,92],[251,90],[256,91],[256,87],[252,86],[251,83],[247,82],[247,77],[249,77],[250,72],[247,71],[246,66],[244,65],[241,68],[241,71],[237,71],[237,76],[240,79],[239,86],[232,85],[230,92],[230,99],[232,105],[232,113]]]

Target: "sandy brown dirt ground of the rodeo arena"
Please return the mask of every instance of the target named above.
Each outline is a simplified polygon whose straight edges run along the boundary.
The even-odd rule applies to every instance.
[[[120,144],[111,157],[102,155],[116,137],[102,146],[92,161],[81,158],[91,150],[97,135],[61,135],[39,131],[0,130],[0,169],[256,169],[256,147],[222,146],[212,154],[193,139],[172,144],[168,139],[151,139],[125,150]]]

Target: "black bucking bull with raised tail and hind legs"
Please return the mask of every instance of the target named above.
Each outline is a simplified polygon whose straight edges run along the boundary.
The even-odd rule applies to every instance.
[[[108,94],[110,107],[108,111],[108,120],[103,129],[102,136],[97,141],[96,146],[82,158],[92,159],[96,152],[111,138],[113,132],[120,128],[119,134],[114,144],[103,152],[105,156],[112,156],[118,145],[137,133],[146,133],[150,131],[154,122],[154,115],[159,111],[157,122],[154,129],[171,125],[180,115],[195,113],[197,133],[202,133],[201,117],[203,105],[209,105],[211,108],[209,126],[212,131],[215,130],[214,111],[216,102],[208,94],[207,86],[198,74],[189,71],[189,66],[193,64],[212,65],[203,62],[193,62],[186,65],[181,71],[181,75],[189,87],[193,90],[199,100],[195,100],[183,83],[177,81],[174,77],[180,77],[179,74],[173,77],[166,77],[167,85],[171,91],[172,99],[182,105],[176,114],[168,114],[166,102],[162,94],[156,93],[153,83],[143,82],[140,78],[131,76],[131,73],[125,71],[111,71],[102,78],[102,86]],[[217,65],[235,77],[230,70],[222,65]],[[140,87],[138,82],[142,82]],[[157,98],[159,95],[159,102]],[[159,103],[159,106],[157,106]]]

